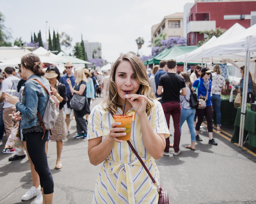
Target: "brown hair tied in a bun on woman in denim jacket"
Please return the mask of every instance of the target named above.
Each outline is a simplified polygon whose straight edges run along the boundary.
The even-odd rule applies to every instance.
[[[35,75],[44,76],[43,64],[40,58],[33,53],[21,57],[21,64],[24,68],[31,70]]]

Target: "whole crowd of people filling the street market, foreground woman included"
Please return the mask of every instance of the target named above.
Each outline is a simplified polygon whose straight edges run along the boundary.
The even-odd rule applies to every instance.
[[[9,161],[28,156],[33,186],[22,196],[26,201],[35,196],[36,204],[52,203],[54,182],[47,162],[47,142],[56,141],[55,169],[62,168],[61,152],[63,140],[70,134],[70,119],[76,120],[75,139],[88,139],[88,156],[93,165],[102,167],[96,181],[93,203],[157,203],[160,185],[159,172],[154,159],[181,153],[179,148],[181,129],[185,121],[189,126],[191,143],[187,149],[195,150],[195,141],[202,141],[199,130],[204,117],[207,120],[209,144],[218,145],[212,133],[212,105],[217,118],[217,131],[221,132],[221,90],[225,80],[219,65],[209,68],[195,66],[192,74],[176,73],[175,60],[162,60],[153,69],[145,69],[143,62],[134,54],[123,54],[112,65],[111,70],[90,71],[65,64],[61,74],[55,65],[44,64],[35,54],[21,58],[16,73],[6,67],[0,71],[2,103],[0,115],[0,145],[6,134],[3,153],[15,153]],[[243,77],[243,70],[241,73]],[[251,86],[250,86],[251,84]],[[243,78],[238,87],[241,89]],[[58,99],[59,114],[51,131],[44,130],[39,116],[44,116],[52,93]],[[196,91],[198,99],[204,99],[205,108],[193,108],[190,95]],[[242,89],[241,89],[242,92]],[[102,102],[90,110],[97,96]],[[72,107],[72,99],[84,97],[81,110]],[[249,79],[248,99],[254,102],[252,79]],[[126,128],[119,127],[113,115],[136,111],[131,124],[131,145],[156,180],[156,185],[140,164],[128,142],[122,140]],[[39,116],[38,116],[39,115]],[[174,139],[170,143],[170,116],[173,119]],[[121,137],[121,139],[120,139]],[[26,151],[26,153],[25,153]],[[100,154],[99,154],[100,152]],[[133,178],[145,178],[145,180]],[[122,184],[122,185],[120,185]],[[143,186],[143,187],[142,187]],[[137,190],[135,190],[137,189]],[[145,190],[146,189],[146,190]]]

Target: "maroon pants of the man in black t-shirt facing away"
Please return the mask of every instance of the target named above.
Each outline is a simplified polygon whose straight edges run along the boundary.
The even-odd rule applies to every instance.
[[[166,116],[166,122],[169,128],[170,116],[172,115],[173,126],[174,126],[174,139],[173,148],[175,152],[179,151],[180,145],[180,103],[179,102],[166,102],[162,103],[164,115]],[[166,149],[165,152],[169,152],[170,141],[169,138],[166,139]]]

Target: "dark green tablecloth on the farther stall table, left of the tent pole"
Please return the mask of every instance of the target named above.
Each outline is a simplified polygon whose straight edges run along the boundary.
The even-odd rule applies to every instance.
[[[221,100],[221,124],[234,125],[236,111],[233,102],[229,102],[229,100]],[[213,123],[217,124],[215,111],[213,111]]]

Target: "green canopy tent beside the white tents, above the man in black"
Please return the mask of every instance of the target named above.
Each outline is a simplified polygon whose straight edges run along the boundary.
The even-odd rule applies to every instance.
[[[160,54],[155,57],[148,59],[147,65],[159,64],[161,60],[176,59],[176,57],[186,54],[195,50],[197,46],[173,46],[170,49],[164,49]],[[166,51],[167,50],[167,51]],[[177,63],[178,65],[183,65],[183,63]],[[145,62],[144,62],[145,65]]]

